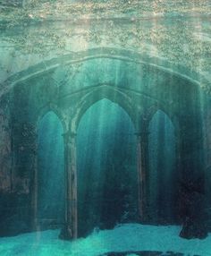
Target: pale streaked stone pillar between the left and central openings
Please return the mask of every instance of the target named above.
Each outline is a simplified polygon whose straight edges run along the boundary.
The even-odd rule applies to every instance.
[[[62,239],[78,237],[77,213],[77,166],[76,166],[76,133],[66,132],[64,135],[64,161],[66,178],[65,226],[61,232]]]

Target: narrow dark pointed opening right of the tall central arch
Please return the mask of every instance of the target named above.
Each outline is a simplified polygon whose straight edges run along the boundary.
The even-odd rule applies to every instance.
[[[176,213],[176,141],[173,123],[158,110],[149,124],[149,206],[155,223],[169,224]]]

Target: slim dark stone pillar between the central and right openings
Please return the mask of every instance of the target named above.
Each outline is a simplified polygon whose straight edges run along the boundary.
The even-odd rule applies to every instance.
[[[148,221],[148,131],[137,132],[139,219]]]

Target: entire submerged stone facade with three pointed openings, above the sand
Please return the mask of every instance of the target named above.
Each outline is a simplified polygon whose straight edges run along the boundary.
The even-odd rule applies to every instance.
[[[0,7],[1,235],[60,227],[60,237],[71,240],[126,219],[181,225],[181,237],[206,237],[211,230],[209,1],[9,2]],[[108,114],[104,106],[88,114],[100,102],[117,110]],[[118,123],[113,137],[93,132],[94,122],[107,115],[126,120],[108,118]],[[85,122],[90,116],[93,125]],[[50,128],[52,120],[60,133]],[[131,139],[125,139],[129,133]],[[96,151],[95,134],[103,145]],[[46,156],[47,140],[48,149],[56,144],[59,150]],[[105,164],[95,162],[99,155]],[[89,179],[97,168],[110,173],[102,193],[102,175]],[[55,179],[58,170],[62,175]],[[128,170],[132,175],[123,180]],[[130,189],[114,190],[129,183]],[[122,198],[135,203],[126,199],[122,205],[129,208],[111,220]],[[107,214],[97,218],[100,203]],[[133,215],[122,218],[122,213]]]

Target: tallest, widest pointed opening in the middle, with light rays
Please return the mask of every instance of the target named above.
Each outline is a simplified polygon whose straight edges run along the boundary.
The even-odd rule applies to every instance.
[[[136,138],[131,118],[108,99],[82,116],[77,132],[79,235],[137,221]]]

